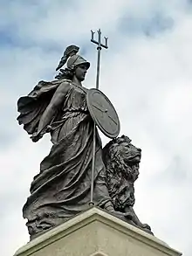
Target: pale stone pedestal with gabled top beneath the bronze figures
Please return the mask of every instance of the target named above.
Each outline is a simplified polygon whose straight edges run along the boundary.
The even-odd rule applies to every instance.
[[[92,208],[33,239],[14,256],[179,256],[160,239]]]

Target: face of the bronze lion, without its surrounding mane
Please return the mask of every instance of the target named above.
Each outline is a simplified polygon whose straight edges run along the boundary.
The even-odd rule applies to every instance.
[[[120,143],[120,155],[127,164],[140,163],[141,161],[141,149],[134,147],[131,143]]]

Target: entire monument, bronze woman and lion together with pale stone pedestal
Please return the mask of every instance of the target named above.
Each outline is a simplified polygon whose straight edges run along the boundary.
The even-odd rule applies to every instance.
[[[79,55],[77,45],[70,45],[56,68],[59,73],[55,80],[39,81],[31,93],[17,102],[20,113],[17,121],[24,125],[32,142],[50,133],[52,147],[40,163],[40,171],[31,183],[31,195],[23,208],[31,242],[16,255],[106,255],[110,251],[106,247],[113,246],[115,240],[122,243],[124,249],[130,249],[135,245],[121,239],[122,233],[115,233],[121,228],[126,236],[134,234],[134,239],[139,236],[138,240],[152,241],[156,245],[153,248],[161,247],[158,249],[161,253],[150,254],[148,249],[143,249],[146,253],[140,254],[141,249],[136,246],[130,252],[136,250],[137,254],[122,251],[118,255],[181,255],[155,239],[150,226],[141,223],[134,212],[134,181],[139,176],[141,149],[134,147],[126,135],[119,136],[118,114],[106,95],[99,91],[100,51],[108,47],[107,38],[102,44],[100,30],[98,40],[92,31],[91,41],[98,50],[96,88],[87,89],[82,85],[90,63]],[[98,128],[111,139],[104,148]],[[95,246],[99,246],[95,232],[108,240],[106,249],[103,248],[106,252],[94,250],[93,245],[90,250],[82,247],[86,246],[87,232]],[[70,245],[77,239],[82,240],[75,251]],[[59,240],[62,243],[57,246]],[[144,242],[145,246],[150,243]],[[169,254],[163,254],[167,251]],[[110,252],[107,255],[117,255],[118,251]]]

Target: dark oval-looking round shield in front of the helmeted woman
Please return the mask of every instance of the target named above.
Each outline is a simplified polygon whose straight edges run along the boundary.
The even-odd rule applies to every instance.
[[[113,139],[120,134],[119,117],[104,93],[98,89],[88,90],[86,104],[93,121],[104,135]]]

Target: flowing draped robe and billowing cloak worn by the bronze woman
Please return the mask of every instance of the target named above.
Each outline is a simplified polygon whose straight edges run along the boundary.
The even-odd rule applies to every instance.
[[[38,122],[61,82],[39,82],[28,96],[18,100],[21,114],[17,120],[24,124],[29,134],[37,131]],[[31,183],[31,196],[24,204],[23,214],[28,219],[31,239],[89,207],[93,120],[86,107],[87,89],[71,81],[68,83],[65,100],[49,126],[53,143],[51,152],[40,164],[40,172]],[[93,199],[100,207],[111,200],[106,188],[106,169],[98,133]]]

